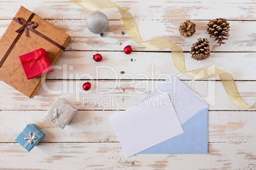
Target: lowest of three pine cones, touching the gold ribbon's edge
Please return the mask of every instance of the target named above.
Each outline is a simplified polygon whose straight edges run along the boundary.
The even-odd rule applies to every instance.
[[[204,38],[197,39],[197,42],[193,44],[190,50],[190,54],[192,54],[191,58],[195,60],[204,60],[210,56],[210,45],[209,41]]]

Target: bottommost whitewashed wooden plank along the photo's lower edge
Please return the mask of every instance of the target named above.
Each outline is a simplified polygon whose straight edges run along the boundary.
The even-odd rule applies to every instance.
[[[0,144],[3,169],[256,169],[255,143],[210,143],[209,154],[134,155],[119,143],[39,143],[27,153]]]

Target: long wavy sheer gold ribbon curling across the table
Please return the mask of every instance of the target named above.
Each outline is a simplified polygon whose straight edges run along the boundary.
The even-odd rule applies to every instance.
[[[180,48],[180,46],[177,46],[176,44],[165,38],[157,38],[152,39],[150,41],[142,41],[133,16],[131,15],[131,13],[129,13],[129,11],[125,10],[124,8],[121,8],[120,6],[118,6],[115,3],[112,3],[109,0],[71,1],[89,11],[97,11],[114,7],[117,8],[122,15],[127,32],[133,41],[151,50],[171,48],[171,52],[173,55],[173,63],[176,69],[178,69],[180,72],[182,72],[185,75],[188,75],[192,79],[207,79],[209,77],[219,75],[220,80],[222,81],[222,84],[225,88],[225,91],[227,92],[227,95],[229,95],[229,98],[231,98],[234,104],[236,104],[240,108],[256,108],[256,103],[254,103],[254,105],[250,107],[245,103],[245,101],[243,101],[243,99],[239,95],[238,89],[236,88],[236,84],[231,74],[211,66],[202,67],[192,71],[187,71],[185,68],[183,50]]]

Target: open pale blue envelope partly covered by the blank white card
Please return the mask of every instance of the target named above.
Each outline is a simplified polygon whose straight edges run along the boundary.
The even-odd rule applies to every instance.
[[[208,105],[194,91],[175,76],[158,86],[158,91],[144,99],[168,93],[173,100],[184,133],[138,154],[207,154],[208,153]]]

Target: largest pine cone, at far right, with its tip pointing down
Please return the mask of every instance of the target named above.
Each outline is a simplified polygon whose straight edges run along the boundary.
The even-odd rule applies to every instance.
[[[225,44],[225,42],[222,42],[223,40],[229,39],[229,27],[229,23],[225,18],[216,18],[207,24],[207,32],[211,38],[215,37],[213,41],[218,40],[217,44],[220,46],[221,44]]]

